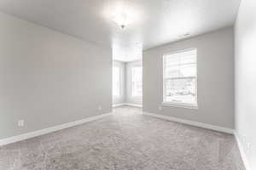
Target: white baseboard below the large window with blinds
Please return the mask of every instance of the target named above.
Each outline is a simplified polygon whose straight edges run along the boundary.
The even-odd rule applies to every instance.
[[[149,112],[145,112],[145,111],[143,111],[143,114],[148,115],[148,116],[154,116],[154,117],[157,117],[160,119],[165,119],[165,120],[172,121],[172,122],[180,122],[180,123],[188,124],[188,125],[195,126],[195,127],[207,128],[207,129],[211,129],[211,130],[222,132],[222,133],[233,134],[233,131],[234,131],[233,129],[227,128],[227,127],[218,127],[215,125],[206,124],[206,123],[202,123],[202,122],[188,121],[188,120],[184,120],[184,119],[173,117],[173,116],[163,116],[163,115],[149,113]]]

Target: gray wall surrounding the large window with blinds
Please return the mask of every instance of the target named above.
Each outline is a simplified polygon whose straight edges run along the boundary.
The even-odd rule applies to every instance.
[[[143,111],[234,127],[233,27],[143,51]],[[198,110],[162,106],[162,55],[197,48]]]

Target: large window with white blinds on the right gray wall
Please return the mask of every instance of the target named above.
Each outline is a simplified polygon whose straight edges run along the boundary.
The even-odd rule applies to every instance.
[[[163,56],[164,104],[197,107],[196,49]]]

